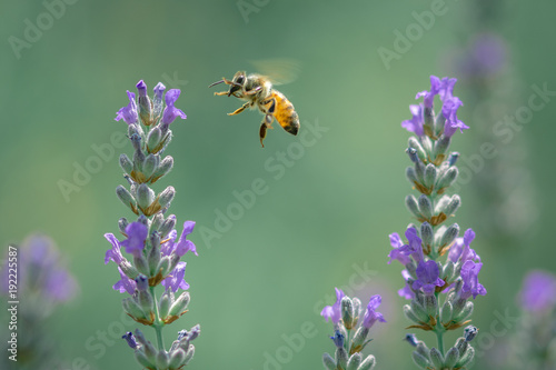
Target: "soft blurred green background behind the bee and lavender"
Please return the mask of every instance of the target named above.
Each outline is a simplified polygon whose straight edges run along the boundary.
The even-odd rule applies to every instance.
[[[165,331],[170,342],[178,330],[201,324],[190,368],[320,369],[321,354],[331,352],[332,343],[331,326],[318,312],[334,302],[334,287],[348,287],[350,279],[354,287],[361,270],[366,283],[357,280],[348,292],[363,301],[383,294],[379,311],[388,320],[374,328],[369,351],[379,369],[413,368],[411,348],[401,341],[408,324],[401,314],[405,301],[396,293],[401,267],[388,266],[386,256],[388,234],[401,233],[411,222],[404,206],[413,191],[404,176],[408,132],[400,122],[410,118],[415,93],[429,88],[430,74],[459,79],[455,94],[465,103],[459,118],[471,129],[457,133],[451,149],[469,157],[492,142],[499,153],[461,184],[456,220],[461,230],[477,232],[474,248],[483,258],[480,280],[488,290],[476,300],[474,323],[485,339],[477,344],[481,356],[475,368],[502,363],[495,353],[506,334],[493,331],[493,326],[502,328],[497,314],[517,313],[515,296],[527,270],[554,270],[554,97],[526,124],[512,129],[510,140],[495,136],[493,128],[527,106],[532,86],[556,90],[556,3],[447,0],[445,12],[428,29],[420,27],[408,50],[388,66],[379,48],[395,51],[396,32],[405,34],[408,26],[418,24],[413,12],[430,12],[431,2],[64,4],[50,24],[41,16],[49,11],[42,2],[0,6],[0,238],[7,246],[37,231],[51,236],[79,280],[79,296],[51,318],[52,340],[68,369],[77,358],[86,367],[76,369],[140,368],[117,338],[122,296],[111,286],[119,277],[113,264],[103,264],[109,247],[103,233],[117,233],[117,220],[130,217],[115,188],[123,183],[117,157],[131,153],[131,146],[116,148],[68,199],[58,186],[73,182],[76,163],[86,166],[97,156],[93,146],[109,144],[115,132],[125,132],[115,113],[140,79],[149,89],[158,81],[181,89],[177,107],[188,114],[172,124],[167,153],[175,169],[158,190],[172,184],[172,213],[180,223],[197,221],[190,239],[199,257],[186,259],[192,301],[189,312]],[[14,51],[10,37],[24,41],[29,22],[38,21],[50,27]],[[477,77],[465,66],[484,32],[503,40],[504,62]],[[301,153],[296,152],[301,146],[292,147],[300,138],[280,128],[269,132],[261,149],[261,116],[227,117],[240,102],[207,89],[222,76],[252,71],[249,62],[260,59],[300,64],[297,80],[279,89],[294,102],[301,132],[316,124],[328,129]],[[268,170],[268,161],[276,164],[279,152],[288,150],[294,154],[286,154],[290,162],[284,174]],[[259,178],[268,191],[219,239],[202,238],[201,227],[216,230],[217,212],[236,202],[234,192]],[[265,364],[265,353],[288,352],[285,338],[301,332],[305,322],[314,326],[315,336],[290,350],[284,363]],[[515,324],[505,324],[512,332]],[[111,334],[103,342],[99,331],[107,330]],[[151,330],[145,332],[155,340]],[[431,334],[418,334],[434,342]]]

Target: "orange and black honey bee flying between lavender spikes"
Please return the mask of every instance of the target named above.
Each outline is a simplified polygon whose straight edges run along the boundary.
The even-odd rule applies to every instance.
[[[266,76],[249,74],[244,71],[238,71],[231,80],[222,77],[220,81],[211,83],[226,83],[230,86],[228,91],[215,92],[215,96],[234,96],[247,101],[236,111],[228,113],[235,116],[241,113],[247,108],[257,107],[265,114],[259,129],[260,144],[265,148],[262,140],[267,136],[267,129],[272,128],[274,119],[289,133],[297,134],[299,131],[299,117],[297,116],[294,104],[281,93],[272,88],[272,82]]]

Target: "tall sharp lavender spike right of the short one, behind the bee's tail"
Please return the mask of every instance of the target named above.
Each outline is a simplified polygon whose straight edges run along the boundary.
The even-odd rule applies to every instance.
[[[398,294],[410,300],[403,308],[413,322],[410,328],[436,334],[434,347],[414,341],[417,346],[413,360],[421,369],[468,368],[475,350],[464,338],[445,349],[444,333],[465,327],[474,309],[470,298],[487,292],[478,281],[483,262],[470,248],[475,232],[467,229],[458,238],[458,223],[448,223],[460,206],[458,194],[447,196],[459,173],[459,153],[449,152],[449,146],[458,129],[463,132],[469,128],[457,117],[463,102],[454,96],[456,82],[454,78],[431,76],[430,91],[417,93],[416,99],[424,98],[423,103],[410,106],[413,119],[401,123],[415,134],[408,141],[411,167],[406,169],[406,177],[419,194],[407,196],[406,206],[419,224],[407,227],[405,244],[398,234],[390,234],[394,249],[388,263],[397,259],[405,267],[405,287]],[[441,102],[441,114],[434,111],[436,96]]]

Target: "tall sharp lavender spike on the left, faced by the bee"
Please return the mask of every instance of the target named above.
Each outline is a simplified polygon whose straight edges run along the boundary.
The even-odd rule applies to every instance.
[[[176,241],[176,216],[168,212],[176,190],[171,186],[165,189],[157,184],[158,189],[165,189],[157,192],[153,183],[173,168],[173,158],[162,157],[162,153],[172,138],[170,123],[178,117],[185,119],[186,114],[175,106],[180,90],[165,93],[166,87],[159,82],[153,96],[149,97],[145,81],[140,80],[136,88],[138,100],[136,93],[128,91],[129,104],[118,111],[116,120],[128,123],[132,148],[132,156],[120,156],[127,183],[117,187],[117,196],[137,219],[120,218],[121,241],[112,233],[105,234],[111,243],[105,254],[105,264],[112,260],[118,266],[120,280],[112,288],[129,294],[122,300],[125,313],[156,332],[156,344],[138,329],[135,334],[128,332],[122,337],[133,349],[141,368],[182,369],[193,357],[195,346],[190,341],[199,336],[199,326],[193,327],[197,328],[195,336],[175,341],[169,349],[165,346],[162,330],[188,311],[190,293],[178,291],[189,288],[185,280],[187,262],[181,258],[188,251],[192,252],[188,256],[198,254],[195,243],[188,239],[195,221],[183,223],[181,237]],[[126,258],[123,251],[131,257]]]

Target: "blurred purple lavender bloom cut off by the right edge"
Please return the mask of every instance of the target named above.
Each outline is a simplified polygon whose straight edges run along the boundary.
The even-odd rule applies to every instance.
[[[519,304],[530,312],[543,312],[556,306],[556,277],[547,271],[527,273],[518,294]]]

